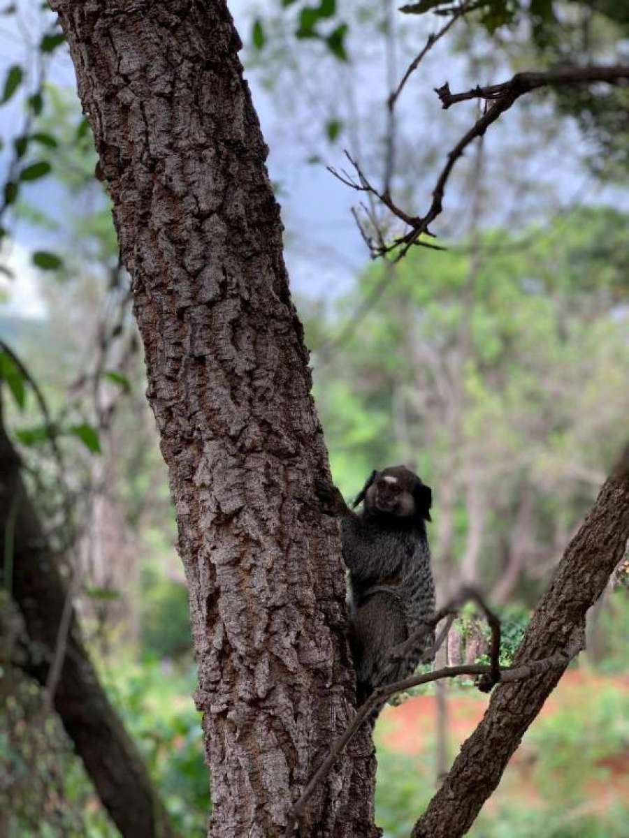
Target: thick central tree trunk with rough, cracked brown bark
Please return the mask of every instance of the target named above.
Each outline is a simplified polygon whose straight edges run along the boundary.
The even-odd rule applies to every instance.
[[[351,716],[344,571],[267,148],[221,0],[54,0],[111,190],[179,524],[210,834],[283,835]],[[365,732],[302,835],[377,835]]]

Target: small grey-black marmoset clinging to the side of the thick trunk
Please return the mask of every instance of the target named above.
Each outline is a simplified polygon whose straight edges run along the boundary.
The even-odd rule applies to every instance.
[[[351,650],[358,704],[382,684],[429,663],[434,631],[413,654],[391,665],[389,654],[434,613],[434,582],[425,522],[432,493],[404,466],[373,472],[354,506],[343,504],[343,558],[351,582]]]

